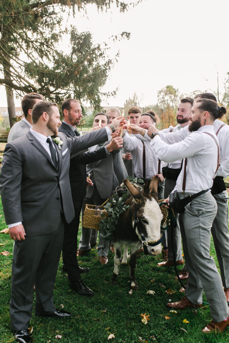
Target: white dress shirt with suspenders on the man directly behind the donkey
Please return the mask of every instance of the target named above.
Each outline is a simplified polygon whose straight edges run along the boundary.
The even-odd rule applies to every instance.
[[[143,144],[145,144],[146,152],[146,179],[152,179],[154,175],[158,174],[158,155],[156,154],[153,147],[150,145],[151,139],[147,135],[147,130],[145,135],[132,134],[131,137],[129,133],[125,132],[123,137],[123,147],[131,153],[132,161],[134,163],[135,175],[138,178],[143,177]],[[162,162],[161,167],[165,164]],[[161,168],[160,168],[161,172]]]

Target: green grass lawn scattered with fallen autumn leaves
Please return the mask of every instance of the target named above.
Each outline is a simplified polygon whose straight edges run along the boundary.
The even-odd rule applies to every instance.
[[[0,230],[6,228],[0,203]],[[80,237],[80,232],[79,232]],[[9,234],[0,235],[0,252],[9,251],[11,255],[0,255],[0,342],[13,342],[10,327],[9,301],[11,285],[11,263],[13,241]],[[211,255],[215,258],[214,244],[211,244]],[[86,298],[73,292],[68,285],[66,273],[61,271],[60,260],[54,289],[54,304],[57,308],[72,312],[66,320],[32,317],[31,326],[35,343],[58,342],[56,335],[61,335],[61,343],[105,343],[105,342],[158,342],[158,343],[228,343],[229,329],[222,334],[203,334],[201,329],[211,320],[209,307],[203,304],[202,309],[187,309],[170,312],[166,304],[180,300],[180,284],[175,281],[175,272],[171,267],[157,267],[162,256],[152,258],[143,254],[138,258],[136,278],[139,291],[129,294],[129,267],[121,266],[118,286],[112,287],[110,280],[114,268],[113,254],[109,252],[108,263],[101,265],[96,249],[79,258],[81,266],[89,267],[90,272],[82,279],[93,289],[95,295]],[[218,265],[217,265],[218,267]],[[182,269],[182,266],[180,266]],[[163,287],[162,286],[165,286]],[[171,288],[173,294],[167,294]],[[154,295],[147,295],[153,290]],[[34,293],[35,299],[35,293]],[[206,297],[203,297],[204,301]],[[205,306],[204,306],[205,305]],[[149,315],[150,321],[141,322],[141,314]],[[165,319],[165,316],[170,319]],[[188,323],[183,322],[186,319]],[[184,331],[185,330],[185,331]],[[115,338],[108,341],[110,333]]]

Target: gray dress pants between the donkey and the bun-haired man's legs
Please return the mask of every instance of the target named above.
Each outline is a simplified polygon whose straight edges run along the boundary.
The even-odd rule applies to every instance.
[[[165,179],[164,181],[164,198],[167,199],[169,194],[172,192],[174,187],[176,186],[176,181],[171,179]],[[176,227],[173,228],[173,237],[172,237],[172,230],[171,226],[167,229],[167,244],[168,244],[168,260],[173,261],[173,252],[172,252],[172,240],[173,240],[173,248],[175,252],[175,260],[179,261],[182,259],[182,251],[181,251],[181,232],[180,232],[180,225],[179,225],[179,214],[174,213],[176,219]],[[173,238],[173,239],[172,239]]]

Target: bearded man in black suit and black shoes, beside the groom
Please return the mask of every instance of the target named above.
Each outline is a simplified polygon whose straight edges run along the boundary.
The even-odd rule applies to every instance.
[[[64,116],[64,121],[62,121],[62,124],[59,127],[59,132],[65,133],[69,138],[79,136],[77,126],[79,126],[82,118],[80,102],[76,99],[66,99],[61,105],[61,111]],[[94,293],[83,283],[81,274],[88,272],[89,268],[80,267],[77,261],[77,236],[80,212],[83,199],[86,195],[87,186],[92,184],[90,179],[87,180],[86,165],[103,159],[107,157],[107,155],[108,152],[105,147],[101,147],[97,151],[87,151],[70,159],[69,179],[75,217],[71,223],[65,222],[62,270],[68,273],[70,288],[75,292],[88,297],[93,296]]]

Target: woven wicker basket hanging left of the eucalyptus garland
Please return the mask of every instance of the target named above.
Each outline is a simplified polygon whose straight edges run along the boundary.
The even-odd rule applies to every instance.
[[[99,230],[99,223],[101,222],[102,217],[107,217],[108,212],[105,210],[103,203],[101,206],[96,205],[85,205],[83,212],[83,221],[82,226],[87,227],[88,229]],[[95,209],[96,208],[96,209]],[[101,216],[101,214],[103,216]]]

